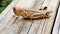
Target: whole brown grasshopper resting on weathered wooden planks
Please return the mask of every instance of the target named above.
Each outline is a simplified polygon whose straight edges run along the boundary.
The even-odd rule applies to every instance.
[[[19,17],[22,16],[24,18],[28,19],[36,19],[36,18],[49,18],[51,16],[51,11],[42,11],[42,10],[36,10],[36,9],[25,9],[25,8],[19,8],[14,7],[13,12],[15,16]]]

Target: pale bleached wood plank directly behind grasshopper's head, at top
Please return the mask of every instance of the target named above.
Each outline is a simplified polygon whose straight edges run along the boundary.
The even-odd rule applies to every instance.
[[[37,0],[20,0],[15,7],[32,8]]]

